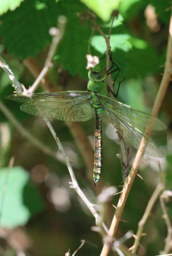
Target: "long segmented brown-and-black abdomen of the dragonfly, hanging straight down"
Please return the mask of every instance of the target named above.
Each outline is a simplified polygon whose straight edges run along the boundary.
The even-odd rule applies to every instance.
[[[102,172],[102,115],[95,109],[95,162],[93,170],[93,180],[95,186],[98,186]]]

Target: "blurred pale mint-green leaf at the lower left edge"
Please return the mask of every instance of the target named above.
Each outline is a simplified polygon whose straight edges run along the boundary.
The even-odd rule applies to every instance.
[[[33,214],[42,211],[43,204],[40,196],[35,187],[27,183],[28,180],[29,174],[19,166],[13,167],[10,172],[8,168],[0,170],[1,227],[15,228],[25,225]],[[29,195],[25,192],[28,187]],[[30,205],[26,205],[27,198],[33,200],[32,211]]]

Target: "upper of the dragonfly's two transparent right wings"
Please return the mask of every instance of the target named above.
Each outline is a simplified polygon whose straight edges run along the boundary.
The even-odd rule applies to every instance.
[[[145,130],[148,120],[153,122],[153,130],[162,131],[166,129],[166,125],[153,115],[133,109],[128,105],[122,104],[121,102],[104,95],[98,95],[98,98],[100,99],[100,102],[104,102],[109,111],[114,113],[124,122],[132,125],[132,127],[139,129],[139,131],[143,132]]]

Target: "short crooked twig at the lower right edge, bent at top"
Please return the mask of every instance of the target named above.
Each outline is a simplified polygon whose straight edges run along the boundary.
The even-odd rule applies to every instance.
[[[168,228],[168,235],[166,237],[164,253],[169,253],[169,251],[171,250],[172,225],[171,225],[171,221],[169,219],[168,211],[167,211],[166,205],[165,205],[165,200],[169,200],[169,198],[171,198],[171,197],[172,197],[172,191],[164,191],[164,193],[162,193],[162,195],[160,196],[160,205],[161,205],[162,211],[164,213],[163,217],[164,217],[164,220],[166,221],[166,225]]]

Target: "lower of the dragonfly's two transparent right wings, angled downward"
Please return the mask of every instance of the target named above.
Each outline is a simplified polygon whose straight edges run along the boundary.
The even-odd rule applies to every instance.
[[[148,141],[145,151],[146,154],[155,157],[164,156],[160,148],[157,147],[156,143],[152,139],[148,138],[148,136],[143,134],[143,132],[139,131],[139,129],[131,125],[132,121],[129,120],[129,122],[127,122],[128,119],[126,120],[126,118],[122,120],[121,116],[123,117],[123,115],[118,116],[118,111],[113,111],[114,109],[111,108],[109,100],[106,100],[104,99],[104,97],[99,96],[98,99],[100,99],[102,108],[106,111],[106,115],[109,117],[114,127],[117,129],[118,132],[120,132],[121,136],[123,136],[123,138],[125,138],[125,140],[130,145],[135,148],[139,148],[141,139],[145,137],[146,141]]]

